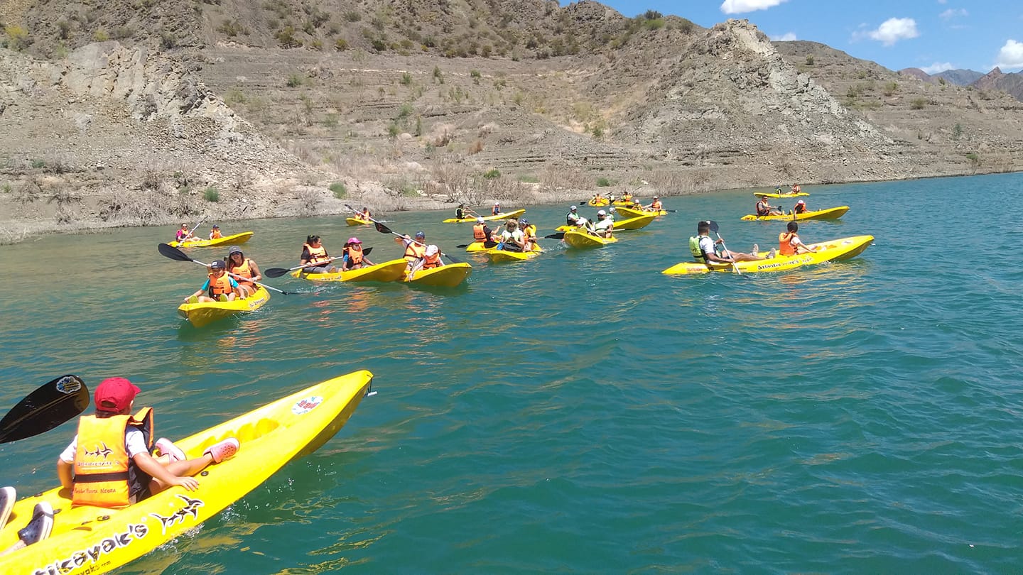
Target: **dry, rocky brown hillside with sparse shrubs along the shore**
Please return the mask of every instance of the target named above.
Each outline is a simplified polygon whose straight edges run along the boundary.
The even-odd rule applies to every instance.
[[[21,136],[0,139],[8,235],[1023,168],[1005,93],[745,20],[554,0],[176,6],[0,2],[0,128]]]

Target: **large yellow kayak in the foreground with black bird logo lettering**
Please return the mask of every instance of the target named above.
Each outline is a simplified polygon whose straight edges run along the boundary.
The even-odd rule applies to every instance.
[[[172,487],[120,510],[73,507],[70,492],[59,488],[19,500],[11,521],[0,530],[0,548],[18,540],[17,530],[40,501],[53,506],[53,531],[38,543],[0,556],[0,573],[95,575],[127,565],[185,532],[202,538],[199,524],[333,437],[368,392],[372,377],[361,370],[335,378],[175,441],[189,457],[201,456],[228,437],[240,443],[233,457],[202,472],[195,491]]]

